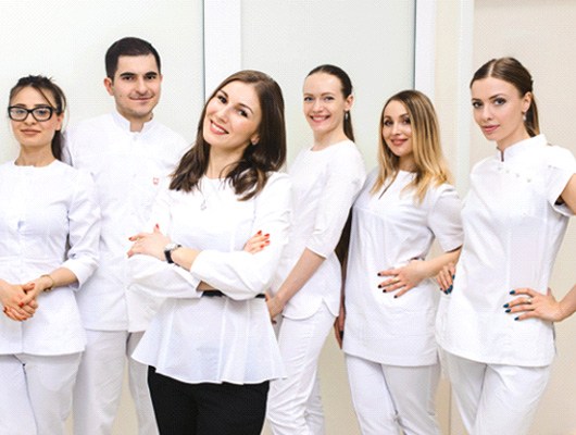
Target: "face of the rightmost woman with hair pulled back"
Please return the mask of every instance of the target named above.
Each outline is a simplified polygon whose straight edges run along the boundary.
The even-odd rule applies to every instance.
[[[529,137],[523,116],[530,107],[530,92],[523,96],[514,85],[494,77],[474,82],[471,90],[474,121],[500,150]]]

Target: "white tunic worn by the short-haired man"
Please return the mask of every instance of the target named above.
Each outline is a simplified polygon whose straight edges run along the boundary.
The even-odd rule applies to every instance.
[[[147,225],[163,178],[187,148],[180,135],[153,120],[141,132],[130,132],[117,112],[68,129],[64,159],[92,174],[102,210],[100,266],[77,295],[86,328],[146,330],[146,312],[158,301],[126,291],[128,237]]]

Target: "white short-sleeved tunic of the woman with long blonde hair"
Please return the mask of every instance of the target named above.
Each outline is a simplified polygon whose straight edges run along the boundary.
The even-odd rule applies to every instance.
[[[371,194],[368,176],[353,207],[346,276],[343,351],[380,364],[415,366],[437,362],[434,324],[438,285],[425,279],[400,298],[385,294],[378,272],[424,260],[435,238],[443,251],[462,246],[461,201],[449,184],[430,186],[418,202],[406,186],[415,174],[400,171]]]

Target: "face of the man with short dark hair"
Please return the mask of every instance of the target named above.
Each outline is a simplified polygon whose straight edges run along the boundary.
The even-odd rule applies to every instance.
[[[140,130],[152,119],[161,83],[153,54],[121,55],[114,78],[104,78],[108,94],[114,97],[117,111],[130,122],[133,132]]]

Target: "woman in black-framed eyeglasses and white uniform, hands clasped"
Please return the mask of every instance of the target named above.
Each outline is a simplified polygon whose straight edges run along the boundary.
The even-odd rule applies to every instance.
[[[60,161],[66,99],[21,78],[8,115],[20,144],[0,165],[0,434],[64,434],[85,346],[74,293],[97,268],[90,176]]]

